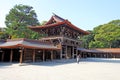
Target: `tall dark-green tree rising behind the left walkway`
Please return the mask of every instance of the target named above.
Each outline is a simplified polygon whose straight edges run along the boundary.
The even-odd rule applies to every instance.
[[[31,6],[15,5],[6,16],[5,24],[6,33],[11,38],[38,38],[39,34],[27,27],[39,25],[37,15]]]

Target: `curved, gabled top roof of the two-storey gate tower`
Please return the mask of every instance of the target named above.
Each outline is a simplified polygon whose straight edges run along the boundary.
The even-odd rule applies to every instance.
[[[52,23],[52,21],[55,21],[55,23]],[[89,32],[84,31],[84,30],[76,27],[75,25],[73,25],[68,20],[63,19],[56,14],[54,14],[45,25],[43,25],[43,26],[31,26],[29,28],[34,30],[34,31],[38,31],[39,29],[48,28],[48,27],[56,27],[56,26],[62,25],[62,24],[68,25],[68,27],[70,27],[70,28],[72,28],[72,29],[74,29],[74,30],[76,30],[80,33],[83,33],[85,35],[89,34]]]

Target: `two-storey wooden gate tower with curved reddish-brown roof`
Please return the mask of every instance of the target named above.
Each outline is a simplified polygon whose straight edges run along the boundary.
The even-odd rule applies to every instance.
[[[58,51],[60,59],[75,58],[77,55],[77,48],[81,47],[81,37],[89,34],[68,20],[59,17],[56,14],[43,26],[31,26],[31,30],[45,35],[41,41],[51,42],[55,46],[60,46],[61,50]]]

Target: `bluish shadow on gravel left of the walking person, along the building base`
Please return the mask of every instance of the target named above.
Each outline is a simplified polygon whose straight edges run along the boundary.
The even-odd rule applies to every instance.
[[[9,62],[1,62],[0,68],[7,68],[12,65],[18,65],[18,66],[28,66],[28,65],[37,65],[37,66],[59,66],[59,65],[65,65],[65,64],[71,64],[76,63],[76,59],[62,59],[62,60],[53,60],[53,61],[45,61],[45,62],[29,62],[29,63],[9,63]]]

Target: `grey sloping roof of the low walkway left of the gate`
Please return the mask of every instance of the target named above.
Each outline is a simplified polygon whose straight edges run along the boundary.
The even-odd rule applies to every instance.
[[[54,46],[51,43],[45,43],[38,40],[30,39],[15,39],[7,40],[6,42],[0,42],[0,48],[34,48],[34,49],[59,49],[57,46]]]

